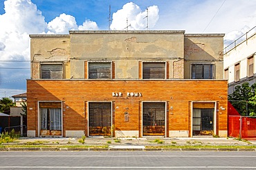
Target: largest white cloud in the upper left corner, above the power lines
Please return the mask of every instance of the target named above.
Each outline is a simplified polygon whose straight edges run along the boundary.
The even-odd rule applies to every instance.
[[[29,36],[43,32],[46,22],[42,12],[30,0],[4,2],[5,13],[0,15],[0,59],[28,60]]]

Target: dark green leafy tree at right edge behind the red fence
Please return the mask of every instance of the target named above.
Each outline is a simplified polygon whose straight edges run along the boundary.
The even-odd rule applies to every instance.
[[[242,116],[253,116],[256,113],[256,83],[237,85],[235,91],[228,95],[228,100]]]

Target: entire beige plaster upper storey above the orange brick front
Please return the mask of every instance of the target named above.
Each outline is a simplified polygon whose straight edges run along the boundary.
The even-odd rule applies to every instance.
[[[30,35],[31,78],[87,79],[91,67],[110,67],[110,78],[143,79],[144,67],[153,63],[156,72],[164,67],[164,79],[223,79],[223,36],[183,30]],[[56,70],[61,77],[49,76]]]

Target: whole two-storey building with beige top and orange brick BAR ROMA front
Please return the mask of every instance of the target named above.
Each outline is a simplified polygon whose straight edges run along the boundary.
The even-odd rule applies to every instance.
[[[227,136],[224,34],[30,35],[28,136]]]

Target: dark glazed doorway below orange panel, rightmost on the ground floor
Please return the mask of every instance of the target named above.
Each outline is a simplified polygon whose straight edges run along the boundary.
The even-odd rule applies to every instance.
[[[193,109],[193,136],[214,135],[214,109]]]

